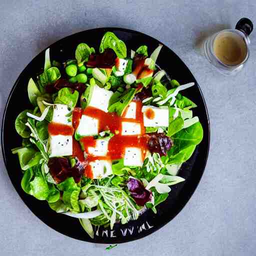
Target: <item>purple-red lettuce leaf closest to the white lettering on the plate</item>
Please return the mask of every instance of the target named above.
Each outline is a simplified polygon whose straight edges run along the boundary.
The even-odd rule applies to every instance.
[[[137,205],[143,206],[146,202],[151,200],[151,191],[145,189],[143,184],[136,178],[129,178],[127,187],[131,197],[135,200]]]

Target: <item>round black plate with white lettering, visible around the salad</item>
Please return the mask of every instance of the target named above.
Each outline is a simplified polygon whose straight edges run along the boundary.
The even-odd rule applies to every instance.
[[[50,57],[57,61],[74,58],[75,48],[80,42],[86,42],[97,49],[105,31],[113,31],[130,49],[136,49],[141,44],[145,44],[148,46],[148,52],[152,52],[160,43],[146,34],[133,30],[96,28],[67,36],[53,43],[49,46]],[[182,165],[179,172],[179,175],[184,177],[186,181],[171,187],[172,190],[167,200],[157,207],[157,214],[148,210],[135,221],[130,221],[125,225],[115,224],[113,230],[109,228],[96,229],[95,237],[91,239],[81,227],[78,219],[57,214],[49,208],[46,201],[39,201],[22,190],[20,186],[22,173],[18,157],[10,151],[11,148],[21,144],[21,137],[16,133],[14,127],[15,118],[21,110],[31,107],[26,84],[32,75],[41,72],[43,64],[44,51],[39,53],[19,75],[8,97],[2,122],[1,136],[4,163],[13,186],[27,207],[56,231],[76,239],[98,243],[119,243],[135,240],[154,232],[169,222],[179,213],[194,192],[203,173],[209,150],[209,119],[206,105],[201,90],[187,66],[172,50],[163,45],[157,64],[181,84],[195,82],[195,86],[182,91],[182,93],[189,96],[197,104],[193,113],[199,117],[204,132],[203,140],[196,147],[192,157]]]

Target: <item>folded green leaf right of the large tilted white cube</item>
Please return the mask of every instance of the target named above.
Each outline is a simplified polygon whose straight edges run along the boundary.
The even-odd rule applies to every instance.
[[[118,93],[119,95],[117,95]],[[121,116],[125,107],[130,103],[135,93],[135,88],[129,88],[122,94],[118,91],[114,92],[109,100],[108,111],[116,112],[119,116]]]

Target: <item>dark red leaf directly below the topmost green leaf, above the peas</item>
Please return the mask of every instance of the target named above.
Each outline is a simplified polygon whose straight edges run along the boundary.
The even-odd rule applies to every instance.
[[[90,54],[89,60],[86,63],[88,67],[100,67],[100,68],[112,68],[115,64],[116,54],[115,52],[107,48],[102,53]]]

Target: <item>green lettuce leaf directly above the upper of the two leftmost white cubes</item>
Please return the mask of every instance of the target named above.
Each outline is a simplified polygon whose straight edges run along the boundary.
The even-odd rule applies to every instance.
[[[54,100],[54,103],[66,104],[70,107],[75,107],[79,93],[77,90],[64,87],[60,89]]]

